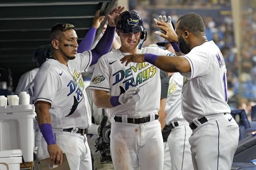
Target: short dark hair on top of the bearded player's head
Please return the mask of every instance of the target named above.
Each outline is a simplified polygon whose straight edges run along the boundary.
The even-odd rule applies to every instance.
[[[187,13],[180,17],[177,21],[178,27],[182,31],[187,30],[194,35],[205,34],[205,26],[203,18],[197,13]]]

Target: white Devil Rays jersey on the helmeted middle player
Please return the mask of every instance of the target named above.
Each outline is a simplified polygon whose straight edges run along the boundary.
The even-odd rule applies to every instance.
[[[158,47],[146,47],[139,50],[138,53],[174,55],[170,51]],[[120,61],[125,55],[129,55],[129,53],[122,53],[119,49],[103,55],[95,66],[89,88],[108,91],[112,96],[119,96],[134,86],[141,89],[138,101],[130,101],[109,109],[110,117],[122,114],[157,113],[161,90],[160,69],[148,62],[131,62],[125,66]],[[150,92],[149,89],[151,89]]]

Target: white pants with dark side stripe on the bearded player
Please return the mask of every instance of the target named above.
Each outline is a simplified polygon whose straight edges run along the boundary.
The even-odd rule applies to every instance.
[[[194,170],[230,170],[238,145],[238,125],[230,114],[205,117],[208,122],[189,137]]]

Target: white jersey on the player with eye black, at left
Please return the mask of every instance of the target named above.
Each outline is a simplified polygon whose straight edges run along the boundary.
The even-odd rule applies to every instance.
[[[91,51],[76,54],[68,67],[58,60],[48,59],[34,80],[35,102],[46,101],[52,128],[89,128],[91,112],[83,84],[82,74],[90,66]]]

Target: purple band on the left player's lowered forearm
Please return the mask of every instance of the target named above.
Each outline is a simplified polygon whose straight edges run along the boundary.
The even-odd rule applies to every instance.
[[[54,137],[54,134],[52,132],[52,125],[48,123],[43,123],[39,125],[39,129],[41,130],[41,133],[43,137],[45,138],[46,143],[49,144],[56,144],[56,140]]]

